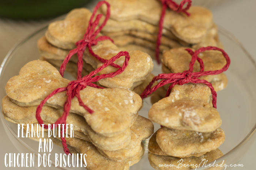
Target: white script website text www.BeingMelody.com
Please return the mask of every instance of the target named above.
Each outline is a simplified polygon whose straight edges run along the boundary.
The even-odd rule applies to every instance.
[[[192,163],[190,163],[191,161],[189,161],[189,163],[188,164],[186,164],[186,163],[183,163],[183,159],[181,158],[177,163],[178,163],[178,165],[174,165],[174,164],[159,164],[158,166],[159,167],[176,167],[177,169],[180,169],[180,168],[184,168],[184,167],[191,167],[192,169],[197,169],[197,168],[199,168],[199,167],[225,167],[225,169],[227,168],[227,167],[243,167],[244,165],[242,165],[242,164],[234,164],[234,165],[232,165],[232,164],[230,164],[230,165],[226,165],[226,163],[225,163],[225,160],[223,160],[221,163],[219,163],[219,164],[217,164],[216,163],[216,160],[214,161],[214,163],[212,163],[212,164],[208,164],[207,165],[207,160],[206,159],[203,159],[202,160],[202,162],[200,162],[198,165],[197,164],[192,164]],[[223,169],[223,170],[225,170],[225,169]]]

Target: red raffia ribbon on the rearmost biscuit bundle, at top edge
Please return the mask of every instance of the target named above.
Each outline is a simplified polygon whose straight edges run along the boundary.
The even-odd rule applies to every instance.
[[[165,12],[166,12],[166,8],[169,7],[170,9],[172,9],[173,11],[180,13],[180,12],[184,12],[187,16],[190,16],[190,14],[187,12],[187,10],[191,7],[191,0],[183,0],[181,1],[180,5],[178,5],[177,3],[175,3],[172,0],[159,0],[162,2],[162,13],[161,13],[161,17],[159,20],[159,30],[158,30],[158,35],[157,35],[157,47],[155,49],[155,58],[157,59],[157,63],[160,64],[160,60],[159,60],[159,46],[161,44],[161,37],[162,37],[162,30],[163,30],[163,20],[165,18]],[[183,6],[187,4],[186,8],[183,8]]]

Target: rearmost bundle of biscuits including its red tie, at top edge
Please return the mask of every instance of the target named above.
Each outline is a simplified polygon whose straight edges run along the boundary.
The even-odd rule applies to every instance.
[[[122,50],[138,49],[156,56],[159,62],[158,53],[171,48],[222,47],[211,11],[190,7],[191,0],[180,6],[172,0],[107,1],[112,13],[102,33]],[[182,9],[185,3],[187,7]],[[100,9],[105,15],[106,8]]]

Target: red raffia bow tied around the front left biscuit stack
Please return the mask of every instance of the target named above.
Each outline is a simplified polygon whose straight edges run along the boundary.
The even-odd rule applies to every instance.
[[[107,66],[111,65],[116,59],[120,58],[121,56],[125,56],[125,61],[124,64],[121,68],[119,68],[117,71],[113,72],[113,73],[109,73],[109,74],[102,74],[99,76],[94,76],[95,74],[97,74],[98,72],[100,72],[101,70],[103,70],[103,68],[106,68]],[[82,79],[79,80],[74,80],[68,83],[67,87],[61,87],[61,88],[57,88],[56,90],[54,90],[51,94],[49,94],[48,96],[46,96],[46,98],[44,100],[42,100],[42,102],[40,103],[39,106],[37,106],[37,110],[36,110],[36,118],[39,122],[39,124],[44,124],[43,120],[41,119],[40,113],[42,110],[42,107],[44,106],[44,104],[46,103],[46,101],[51,98],[53,95],[59,93],[59,92],[63,92],[63,91],[67,91],[67,100],[64,103],[64,112],[63,115],[53,124],[65,124],[66,125],[66,120],[67,120],[67,116],[69,114],[70,108],[71,108],[71,100],[76,97],[78,98],[79,101],[79,105],[83,106],[85,110],[87,110],[89,113],[93,113],[93,111],[86,106],[82,99],[80,98],[80,90],[83,90],[84,88],[86,88],[86,86],[91,86],[94,88],[104,88],[104,87],[99,87],[96,84],[93,84],[92,82],[97,82],[98,80],[101,79],[105,79],[105,78],[112,78],[118,74],[121,74],[124,69],[128,66],[128,61],[130,59],[129,53],[127,51],[121,51],[119,52],[116,56],[112,57],[110,60],[108,60],[108,62],[104,63],[101,67],[97,68],[96,70],[90,72],[89,75],[84,76]],[[51,124],[51,127],[53,127]],[[47,129],[48,125],[44,125],[44,127]],[[66,129],[66,126],[64,126]],[[65,131],[64,129],[64,131]],[[61,134],[62,134],[62,130],[61,130]],[[66,140],[65,137],[61,137],[61,141],[63,144],[63,149],[64,152],[66,154],[69,154],[69,150],[67,148],[67,144],[66,144]]]

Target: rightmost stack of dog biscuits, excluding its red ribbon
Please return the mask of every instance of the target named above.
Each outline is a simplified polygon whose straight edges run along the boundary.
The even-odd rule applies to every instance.
[[[218,51],[206,51],[198,56],[203,60],[204,71],[219,70],[226,64],[222,53]],[[190,61],[191,55],[184,47],[165,51],[162,71],[166,74],[183,72],[189,69]],[[196,61],[193,72],[199,71],[200,65]],[[227,85],[227,78],[223,73],[202,76],[199,79],[211,82],[216,91]],[[219,113],[210,103],[210,88],[206,84],[177,84],[165,98],[169,86],[170,84],[166,84],[158,89],[155,95],[158,95],[159,101],[155,100],[148,112],[150,120],[163,126],[150,138],[150,165],[160,170],[164,168],[158,166],[161,160],[178,165],[176,160],[182,158],[183,163],[198,165],[204,158],[211,162],[221,157],[223,154],[218,147],[225,141],[225,134],[220,128],[222,120]],[[172,168],[175,169],[169,169]],[[216,170],[218,168],[222,167],[216,167]]]

